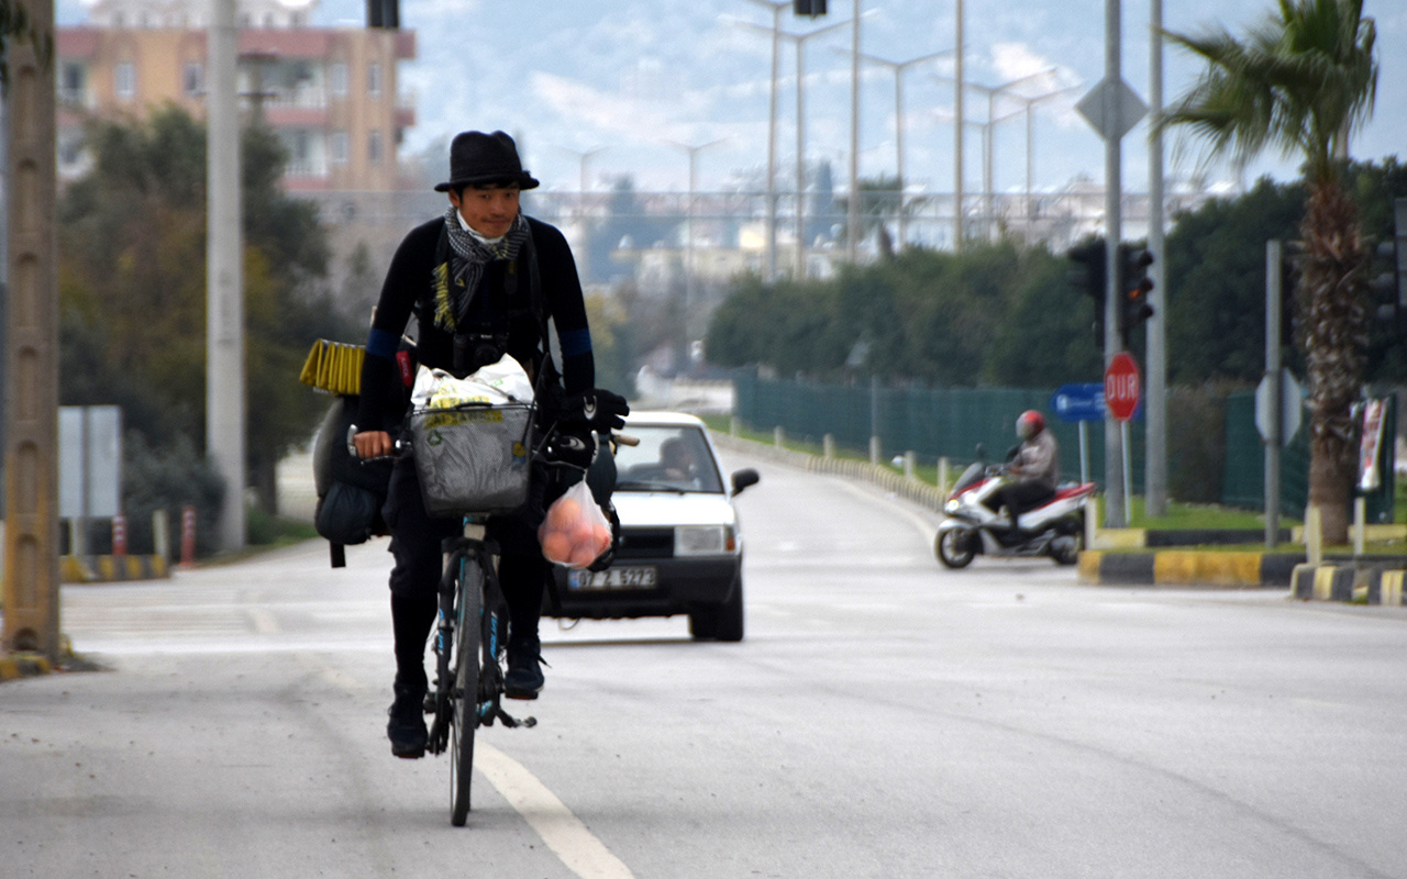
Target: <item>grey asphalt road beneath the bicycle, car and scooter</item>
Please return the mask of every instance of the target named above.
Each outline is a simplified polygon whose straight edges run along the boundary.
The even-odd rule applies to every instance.
[[[747,640],[543,622],[532,730],[384,740],[384,543],[65,589],[110,672],[0,686],[0,876],[1407,876],[1407,612],[933,558],[756,464]]]

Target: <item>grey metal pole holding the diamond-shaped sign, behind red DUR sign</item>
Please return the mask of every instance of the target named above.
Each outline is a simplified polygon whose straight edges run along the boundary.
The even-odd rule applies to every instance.
[[[1119,90],[1112,87],[1123,82],[1120,66],[1120,18],[1121,0],[1104,0],[1104,118],[1119,118]],[[1120,350],[1119,333],[1119,240],[1123,235],[1123,149],[1121,138],[1117,132],[1110,132],[1104,138],[1104,217],[1107,222],[1104,233],[1104,363],[1106,366]],[[1127,519],[1127,499],[1123,484],[1123,437],[1120,422],[1113,418],[1104,419],[1104,516],[1106,526],[1124,527]]]

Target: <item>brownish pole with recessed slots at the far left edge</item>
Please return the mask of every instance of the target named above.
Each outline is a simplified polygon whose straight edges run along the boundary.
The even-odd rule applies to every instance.
[[[27,4],[53,32],[52,0]],[[10,63],[4,641],[0,650],[59,655],[59,283],[53,203],[53,70],[25,39]]]

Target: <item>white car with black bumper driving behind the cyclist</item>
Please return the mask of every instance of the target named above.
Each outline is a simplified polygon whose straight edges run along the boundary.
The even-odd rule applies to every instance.
[[[560,617],[689,615],[695,639],[743,639],[743,534],[733,498],[758,481],[725,482],[704,422],[678,412],[632,412],[620,430],[639,439],[615,456],[612,501],[620,543],[602,571],[556,568]]]

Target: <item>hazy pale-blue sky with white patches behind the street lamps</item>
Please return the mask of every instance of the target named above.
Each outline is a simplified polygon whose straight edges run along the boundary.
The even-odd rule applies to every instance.
[[[789,4],[781,28],[805,41],[805,153],[829,160],[844,188],[850,150],[853,3],[830,0],[830,14],[798,18]],[[861,52],[891,62],[947,55],[903,73],[905,176],[910,187],[951,191],[957,0],[862,0]],[[1164,27],[1196,32],[1225,27],[1244,35],[1273,0],[1165,0]],[[1365,0],[1377,25],[1376,114],[1352,145],[1355,159],[1380,159],[1407,143],[1407,1]],[[1150,0],[1123,4],[1123,79],[1147,101]],[[80,0],[61,0],[61,24],[83,18]],[[965,0],[965,77],[1043,100],[1033,110],[1033,188],[1059,190],[1079,177],[1102,181],[1104,150],[1076,101],[1104,75],[1104,0]],[[362,0],[321,0],[314,24],[360,27]],[[402,66],[401,90],[416,100],[416,125],[402,155],[443,149],[457,131],[504,129],[519,138],[525,165],[547,190],[606,188],[632,176],[637,188],[688,188],[695,152],[701,191],[765,180],[771,93],[772,10],[761,0],[401,0],[401,25],[416,31],[418,58]],[[758,25],[761,30],[758,30]],[[788,187],[796,153],[796,56],[784,39],[778,59],[778,187]],[[1175,100],[1200,68],[1165,51],[1165,97]],[[892,176],[895,75],[862,66],[860,174]],[[969,90],[964,115],[964,186],[982,186],[982,127],[989,101]],[[992,132],[996,191],[1026,186],[1023,104],[999,100]],[[1147,124],[1123,141],[1124,188],[1147,187]],[[597,152],[599,150],[599,152]],[[588,159],[581,153],[591,152]],[[1268,155],[1245,172],[1296,176],[1294,160]],[[1234,181],[1224,162],[1209,162],[1195,141],[1168,146],[1172,184],[1200,176]]]

